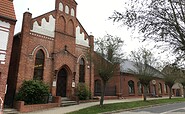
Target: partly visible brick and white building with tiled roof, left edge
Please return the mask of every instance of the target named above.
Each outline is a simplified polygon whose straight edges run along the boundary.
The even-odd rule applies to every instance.
[[[3,100],[6,93],[15,23],[13,0],[0,0],[0,98]]]

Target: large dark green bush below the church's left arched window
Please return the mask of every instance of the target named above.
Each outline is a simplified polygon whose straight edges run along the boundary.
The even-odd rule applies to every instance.
[[[42,104],[47,102],[49,86],[39,80],[24,81],[19,89],[16,100],[25,104]]]

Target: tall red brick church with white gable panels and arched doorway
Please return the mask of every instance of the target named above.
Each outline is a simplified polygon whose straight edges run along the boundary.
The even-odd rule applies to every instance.
[[[39,9],[38,9],[39,10]],[[14,36],[6,105],[11,106],[24,80],[48,83],[53,96],[72,99],[79,82],[93,95],[94,71],[87,54],[94,38],[76,17],[75,0],[56,0],[55,9],[33,18],[23,14],[22,30]]]

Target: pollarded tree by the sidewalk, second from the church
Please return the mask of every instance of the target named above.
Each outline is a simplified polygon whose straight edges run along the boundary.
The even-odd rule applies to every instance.
[[[131,52],[130,56],[134,62],[134,69],[130,69],[130,72],[136,75],[140,83],[144,86],[144,101],[146,101],[146,91],[150,85],[150,81],[162,74],[152,67],[152,64],[155,63],[155,58],[149,50],[140,48],[137,52]]]

